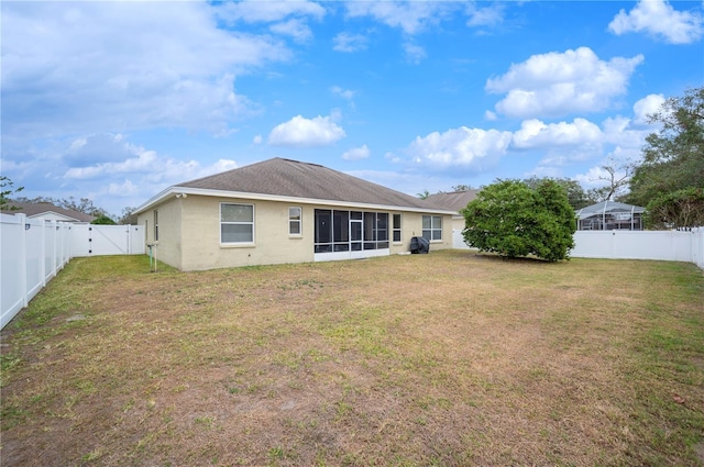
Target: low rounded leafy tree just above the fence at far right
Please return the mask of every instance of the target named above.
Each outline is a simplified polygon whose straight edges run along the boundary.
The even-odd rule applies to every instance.
[[[653,199],[647,207],[646,225],[656,230],[704,225],[704,189],[685,188]]]

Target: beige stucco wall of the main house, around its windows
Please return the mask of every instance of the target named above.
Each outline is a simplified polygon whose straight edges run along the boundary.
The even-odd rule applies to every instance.
[[[252,245],[222,245],[220,243],[220,203],[254,205],[254,243]],[[288,208],[302,209],[301,235],[288,234]],[[156,209],[160,216],[158,259],[182,270],[204,270],[239,266],[314,262],[315,210],[359,208],[295,202],[260,201],[233,198],[188,196],[170,198]],[[153,242],[153,211],[140,214],[139,222],[147,222],[147,243]],[[380,211],[380,210],[375,210]],[[402,242],[393,238],[393,214],[388,212],[391,254],[409,251],[410,238],[422,234],[422,214],[400,212]],[[443,215],[442,241],[432,242],[430,249],[452,247],[452,221]]]

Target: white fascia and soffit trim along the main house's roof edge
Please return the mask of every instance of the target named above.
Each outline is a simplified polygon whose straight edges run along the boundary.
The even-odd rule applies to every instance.
[[[331,207],[344,207],[355,208],[361,210],[377,210],[377,211],[402,211],[402,212],[422,212],[429,214],[457,214],[457,211],[443,210],[443,209],[427,209],[427,208],[414,208],[414,207],[399,207],[399,205],[386,205],[386,204],[367,204],[352,201],[338,201],[338,200],[320,200],[314,198],[296,198],[296,197],[283,197],[279,194],[266,194],[266,193],[248,193],[243,191],[226,191],[226,190],[212,190],[207,188],[186,188],[186,187],[169,187],[161,193],[152,197],[144,204],[139,207],[134,213],[139,214],[146,211],[152,205],[160,203],[165,198],[176,194],[198,194],[204,197],[218,197],[218,198],[235,198],[243,200],[257,200],[257,201],[280,201],[289,204],[318,204],[318,205],[331,205]]]

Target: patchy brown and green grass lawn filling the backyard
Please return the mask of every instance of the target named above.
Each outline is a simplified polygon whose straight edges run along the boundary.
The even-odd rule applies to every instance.
[[[460,251],[78,258],[2,331],[2,466],[704,464],[704,275]]]

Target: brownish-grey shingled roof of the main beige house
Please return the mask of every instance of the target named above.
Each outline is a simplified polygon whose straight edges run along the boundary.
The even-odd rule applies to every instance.
[[[174,188],[234,191],[421,210],[447,210],[447,208],[432,202],[318,164],[279,157],[179,184]]]

